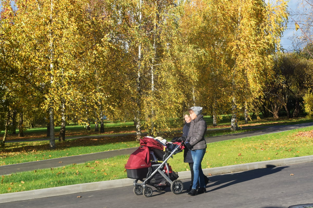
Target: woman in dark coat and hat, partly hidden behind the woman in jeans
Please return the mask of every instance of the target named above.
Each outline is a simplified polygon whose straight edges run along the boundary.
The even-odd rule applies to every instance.
[[[184,120],[185,120],[185,125],[182,128],[182,136],[179,138],[175,137],[174,139],[172,139],[172,142],[186,141],[187,136],[188,136],[188,132],[189,132],[189,127],[191,124],[191,118],[190,118],[189,111],[184,112]],[[190,187],[189,187],[189,189],[187,189],[187,192],[189,192],[192,189],[192,183],[193,183],[193,160],[192,160],[192,156],[191,156],[191,151],[188,148],[184,149],[184,162],[189,164],[189,168],[190,168],[190,172],[191,172]],[[210,179],[208,179],[208,177],[205,175],[203,175],[203,178],[204,178],[205,184],[207,184],[210,181]]]

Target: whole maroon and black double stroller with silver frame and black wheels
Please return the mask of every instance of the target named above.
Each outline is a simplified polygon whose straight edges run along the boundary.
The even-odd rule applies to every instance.
[[[166,187],[171,187],[174,194],[180,194],[183,191],[183,183],[177,180],[177,172],[173,172],[167,160],[174,154],[181,152],[183,142],[166,143],[155,140],[152,137],[140,139],[140,147],[133,152],[125,165],[127,177],[134,180],[134,193],[150,197],[152,188],[157,191],[164,191]],[[172,151],[170,151],[172,150]],[[157,162],[162,161],[162,162]],[[138,180],[143,181],[138,183]]]

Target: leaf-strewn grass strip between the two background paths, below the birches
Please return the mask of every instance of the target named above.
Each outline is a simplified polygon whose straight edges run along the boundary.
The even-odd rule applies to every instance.
[[[239,130],[236,131],[252,131]],[[206,136],[217,136],[231,133],[230,130],[207,131]],[[172,138],[166,138],[171,141]],[[47,141],[10,142],[0,150],[0,166],[22,162],[39,161],[66,156],[82,155],[102,151],[119,150],[138,146],[135,136],[116,136],[98,138],[70,139],[56,141],[57,148],[49,150]]]

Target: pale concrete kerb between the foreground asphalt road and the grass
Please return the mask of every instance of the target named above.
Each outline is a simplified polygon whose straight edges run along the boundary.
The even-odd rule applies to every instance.
[[[292,158],[278,159],[278,160],[270,160],[270,161],[251,162],[251,163],[215,167],[215,168],[207,168],[207,169],[203,169],[203,173],[205,175],[209,175],[209,174],[217,175],[217,174],[231,173],[231,172],[238,172],[238,171],[248,171],[248,170],[265,168],[265,167],[270,167],[270,166],[282,166],[282,165],[290,165],[290,164],[295,164],[295,163],[311,162],[311,161],[313,161],[313,155],[292,157]],[[179,175],[179,179],[187,179],[191,177],[190,171],[182,171],[182,172],[179,172],[178,175]],[[65,194],[74,194],[74,193],[81,193],[81,192],[86,192],[86,191],[96,191],[96,190],[101,190],[101,189],[117,188],[117,187],[124,187],[124,186],[132,186],[133,181],[134,181],[133,179],[125,178],[125,179],[117,179],[117,180],[111,180],[111,181],[99,181],[99,182],[75,184],[75,185],[69,185],[69,186],[59,186],[59,187],[53,187],[53,188],[37,189],[37,190],[31,190],[31,191],[6,193],[6,194],[0,194],[0,203],[37,199],[37,198],[44,198],[44,197],[49,197],[49,196],[59,196],[59,195],[65,195]]]

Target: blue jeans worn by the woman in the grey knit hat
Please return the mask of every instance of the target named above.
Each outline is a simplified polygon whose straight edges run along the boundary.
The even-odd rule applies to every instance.
[[[198,181],[200,183],[199,185],[200,188],[203,188],[205,186],[202,167],[201,167],[201,162],[202,162],[204,154],[205,154],[205,149],[191,150],[191,156],[193,160],[193,183],[192,183],[193,189],[198,188]]]

